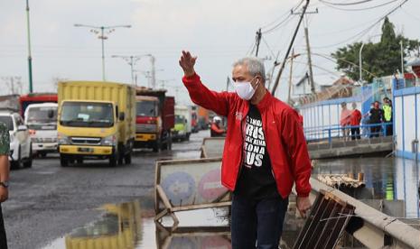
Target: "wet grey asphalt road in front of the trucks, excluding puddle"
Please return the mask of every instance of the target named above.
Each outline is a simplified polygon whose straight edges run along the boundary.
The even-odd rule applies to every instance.
[[[9,200],[3,203],[9,248],[42,248],[76,227],[98,219],[107,203],[139,199],[153,216],[154,163],[198,158],[203,137],[173,143],[172,152],[136,151],[133,163],[109,168],[107,161],[61,168],[58,154],[33,161],[33,168],[11,172]]]

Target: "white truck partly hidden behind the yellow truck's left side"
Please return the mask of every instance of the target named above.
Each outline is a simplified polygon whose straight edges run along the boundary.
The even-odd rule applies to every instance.
[[[45,157],[57,152],[57,103],[31,104],[24,111],[24,123],[31,134],[33,153]]]

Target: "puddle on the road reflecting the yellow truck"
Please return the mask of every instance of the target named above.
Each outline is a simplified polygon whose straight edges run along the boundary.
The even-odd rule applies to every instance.
[[[43,249],[229,249],[230,233],[227,210],[196,210],[180,212],[181,226],[203,226],[206,229],[183,229],[170,232],[170,228],[156,226],[153,217],[143,217],[139,201],[105,205],[106,213],[97,221],[73,230]],[[167,226],[170,221],[163,221]]]

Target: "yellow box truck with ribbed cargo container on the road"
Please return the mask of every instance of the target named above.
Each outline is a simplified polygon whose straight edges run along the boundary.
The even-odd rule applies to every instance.
[[[135,142],[135,88],[97,81],[66,81],[58,89],[61,166],[85,159],[131,163]]]

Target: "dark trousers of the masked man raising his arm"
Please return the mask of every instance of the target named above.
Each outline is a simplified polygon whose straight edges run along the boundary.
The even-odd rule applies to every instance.
[[[277,249],[288,198],[252,199],[233,195],[232,249]]]

